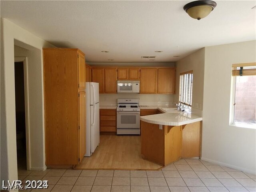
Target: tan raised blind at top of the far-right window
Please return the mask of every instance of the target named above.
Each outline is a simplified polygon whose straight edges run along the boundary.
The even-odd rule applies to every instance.
[[[256,63],[242,63],[232,65],[232,76],[256,75]]]

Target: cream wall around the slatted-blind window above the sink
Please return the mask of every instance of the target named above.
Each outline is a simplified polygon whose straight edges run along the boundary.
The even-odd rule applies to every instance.
[[[193,90],[192,90],[192,111],[202,115],[203,95],[204,95],[204,52],[202,48],[185,58],[176,62],[176,94],[174,101],[179,101],[180,73],[193,70]]]

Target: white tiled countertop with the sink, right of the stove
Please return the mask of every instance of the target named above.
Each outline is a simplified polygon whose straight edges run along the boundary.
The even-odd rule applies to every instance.
[[[202,121],[203,118],[197,116],[195,114],[191,114],[190,112],[181,112],[172,110],[172,112],[167,112],[165,109],[170,108],[174,109],[175,106],[166,107],[166,106],[141,106],[141,109],[159,109],[160,111],[164,112],[162,114],[155,114],[155,115],[147,115],[141,116],[140,120],[152,124],[159,124],[159,125],[170,125],[170,126],[180,126],[189,123],[194,123],[198,121]]]

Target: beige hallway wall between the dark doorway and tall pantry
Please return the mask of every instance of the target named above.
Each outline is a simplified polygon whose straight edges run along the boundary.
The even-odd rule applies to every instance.
[[[17,41],[14,42],[16,44]],[[38,152],[38,148],[44,148],[44,119],[42,110],[42,80],[38,78],[42,75],[41,70],[41,50],[30,48],[30,50],[14,45],[15,57],[27,57],[28,74],[28,116],[29,116],[29,136],[30,136],[30,169],[42,170],[44,167],[44,152]],[[40,110],[38,110],[40,109]]]

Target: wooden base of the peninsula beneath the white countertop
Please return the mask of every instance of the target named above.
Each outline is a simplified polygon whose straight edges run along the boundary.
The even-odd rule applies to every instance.
[[[166,166],[180,158],[200,156],[200,122],[166,126],[141,121],[141,154]]]

